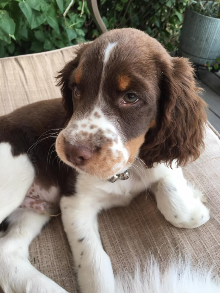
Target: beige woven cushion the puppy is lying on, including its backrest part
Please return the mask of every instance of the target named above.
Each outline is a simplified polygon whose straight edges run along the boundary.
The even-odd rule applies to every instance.
[[[32,102],[60,96],[55,87],[56,71],[73,58],[74,48],[0,59],[0,114]],[[136,260],[145,263],[152,252],[166,260],[170,255],[191,255],[220,267],[220,140],[207,128],[206,148],[201,157],[186,168],[185,177],[207,196],[211,218],[196,229],[179,229],[166,222],[154,197],[139,195],[125,208],[114,208],[99,217],[103,246],[116,273],[132,272]],[[60,217],[42,230],[30,246],[30,261],[38,270],[68,292],[76,292],[74,262]],[[1,264],[0,264],[1,266]]]

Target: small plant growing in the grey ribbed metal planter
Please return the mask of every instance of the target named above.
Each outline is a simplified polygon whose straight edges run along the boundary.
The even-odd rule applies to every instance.
[[[220,0],[216,1],[190,1],[188,3],[190,10],[202,15],[220,18]]]

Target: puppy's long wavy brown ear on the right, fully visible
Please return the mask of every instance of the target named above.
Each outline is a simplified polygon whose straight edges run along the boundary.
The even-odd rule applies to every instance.
[[[206,103],[198,96],[194,70],[187,59],[175,57],[161,68],[161,97],[156,126],[146,134],[140,157],[147,166],[166,162],[186,165],[204,149]]]

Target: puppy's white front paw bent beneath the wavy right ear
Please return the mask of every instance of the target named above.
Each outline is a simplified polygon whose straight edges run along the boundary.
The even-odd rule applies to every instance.
[[[187,184],[181,168],[167,168],[167,173],[151,190],[156,196],[158,209],[175,227],[195,228],[209,220],[209,210],[203,204],[205,197]]]

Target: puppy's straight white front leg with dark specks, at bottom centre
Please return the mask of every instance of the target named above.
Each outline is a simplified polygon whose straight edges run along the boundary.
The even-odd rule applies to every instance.
[[[103,250],[98,231],[100,202],[95,196],[77,194],[62,197],[60,203],[82,293],[114,293],[111,261]]]

